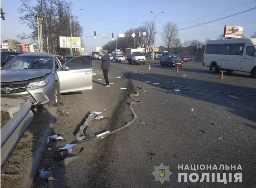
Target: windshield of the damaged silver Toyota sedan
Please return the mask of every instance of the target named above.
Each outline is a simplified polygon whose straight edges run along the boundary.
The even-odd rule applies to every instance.
[[[51,69],[50,57],[19,57],[12,58],[3,69]]]

